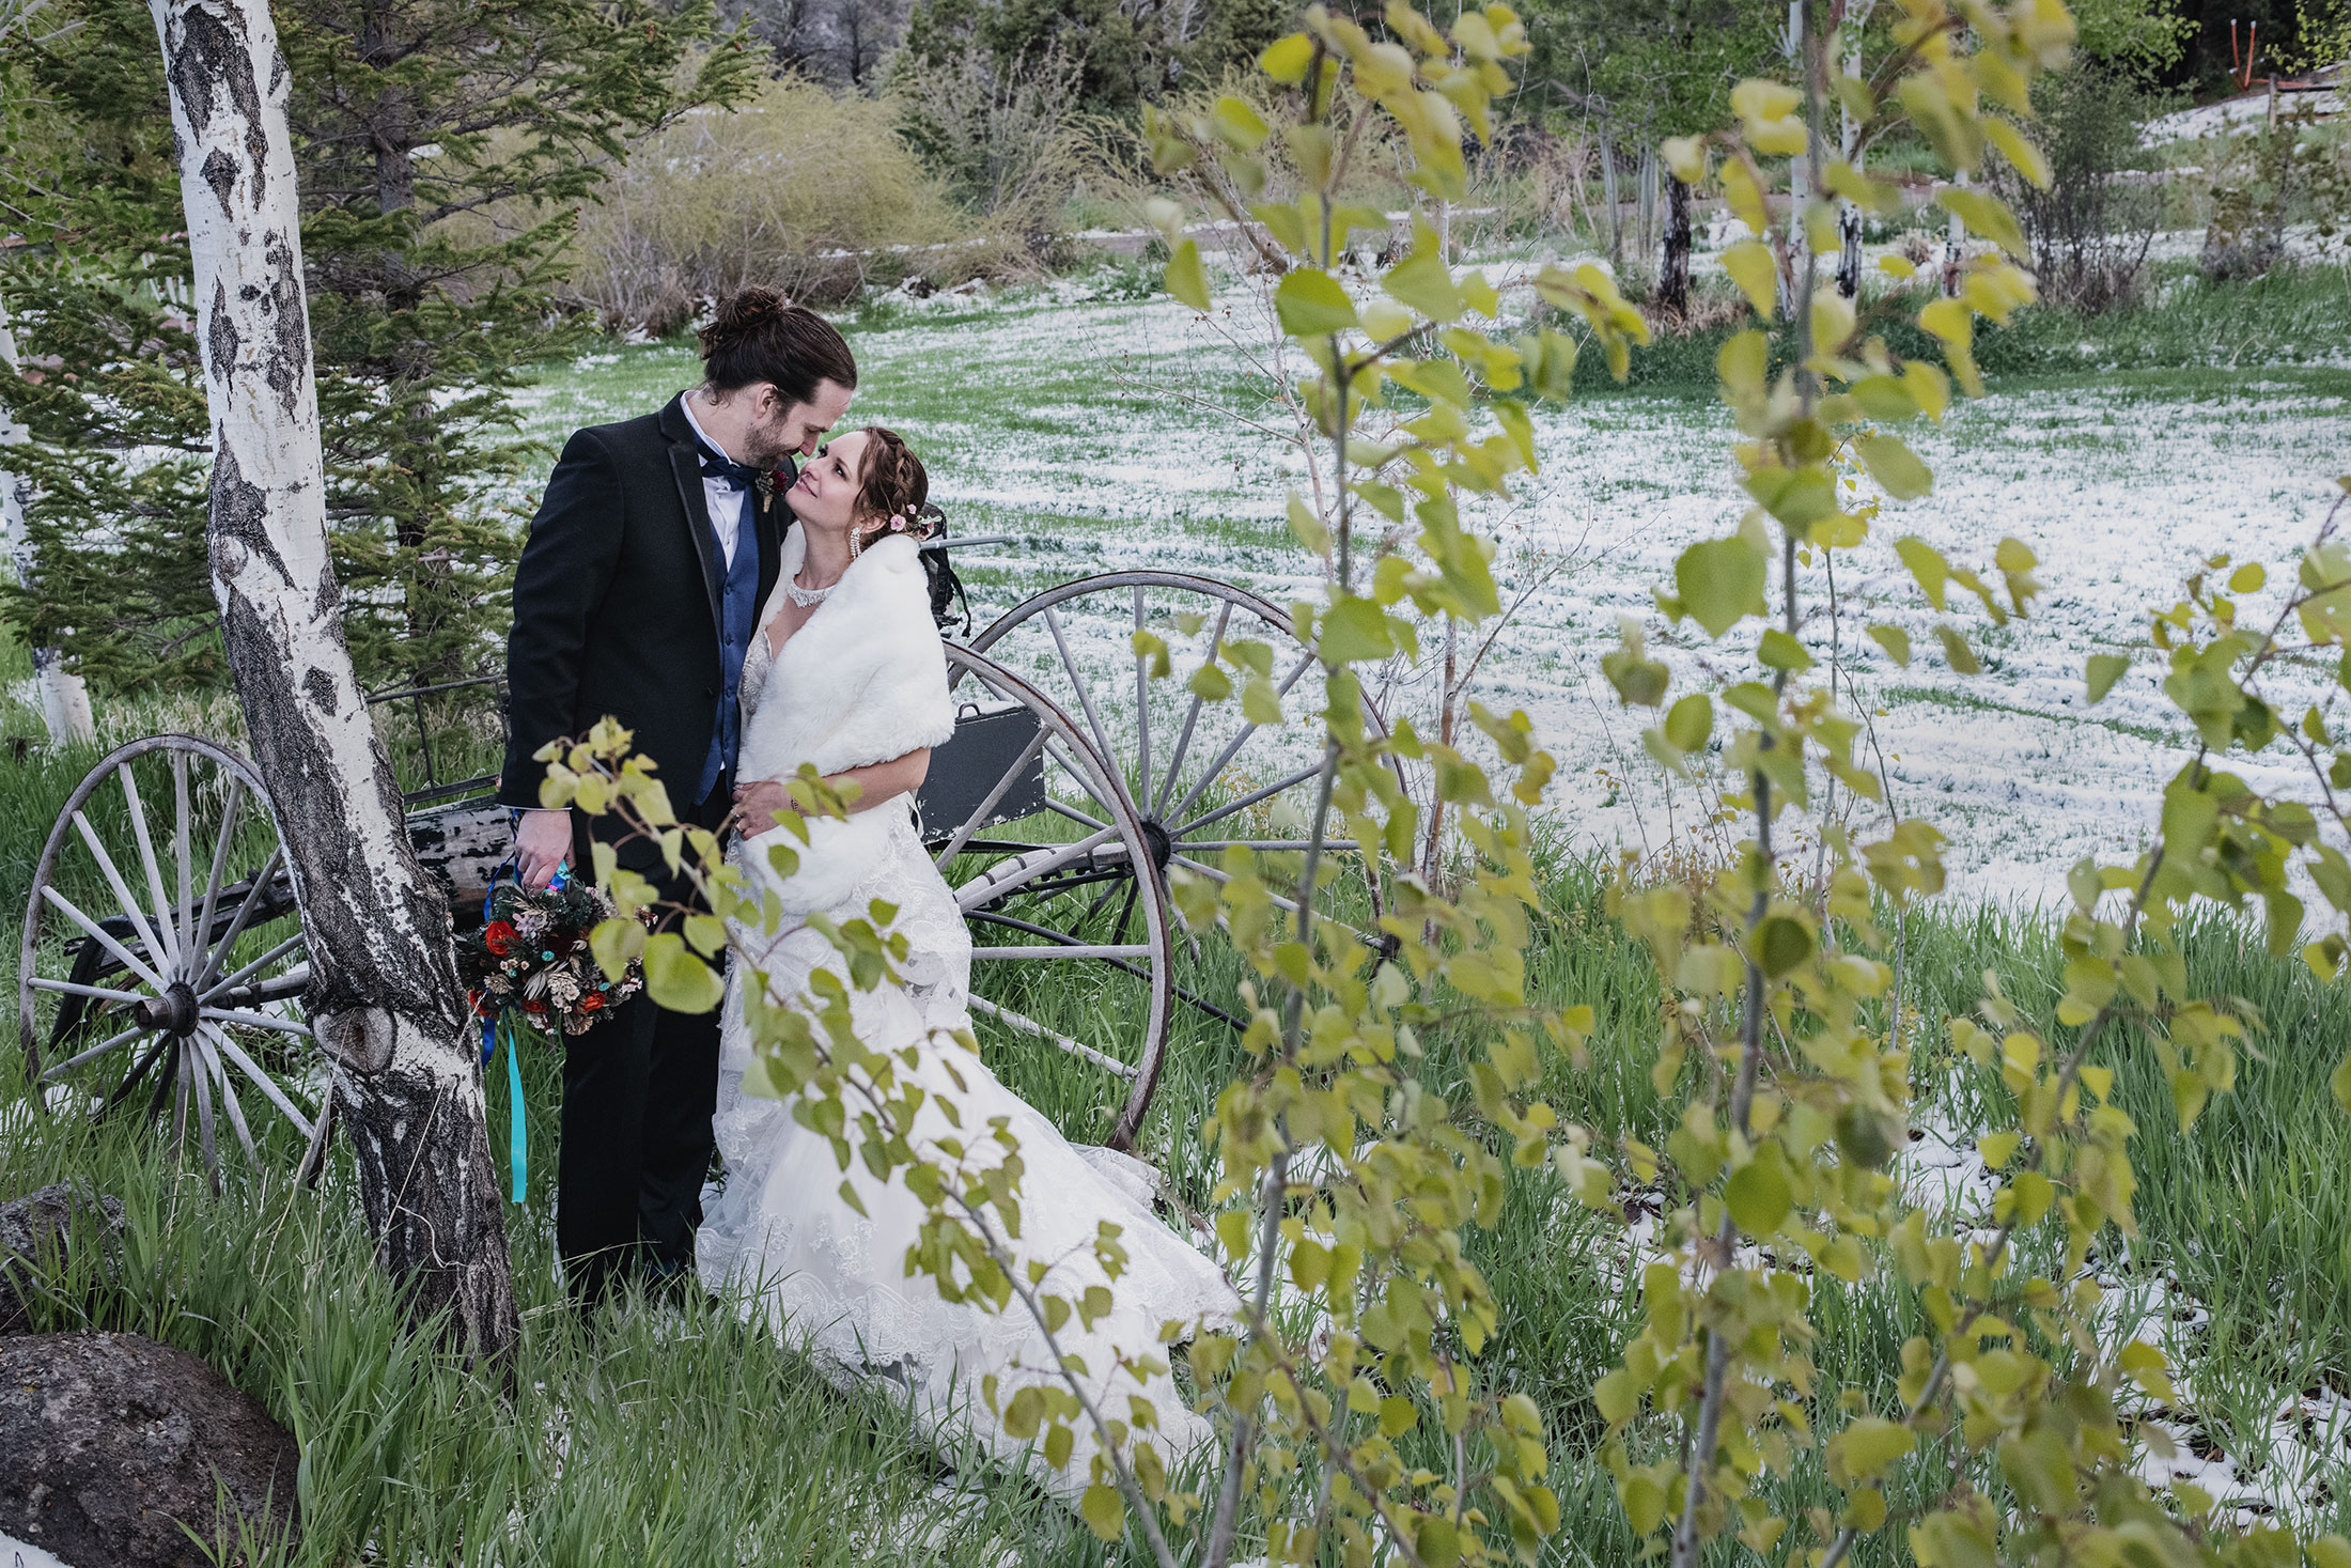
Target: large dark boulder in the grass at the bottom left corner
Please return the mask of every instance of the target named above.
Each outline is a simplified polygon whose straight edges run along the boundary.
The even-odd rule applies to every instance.
[[[195,1356],[134,1333],[0,1340],[0,1533],[75,1568],[197,1568],[181,1530],[292,1533],[294,1436]],[[223,1500],[226,1490],[226,1500]]]

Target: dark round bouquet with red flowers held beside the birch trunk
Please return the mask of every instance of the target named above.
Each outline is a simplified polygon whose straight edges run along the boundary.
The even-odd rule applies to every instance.
[[[482,929],[456,945],[456,969],[473,1016],[484,1025],[520,1016],[550,1037],[592,1030],[644,987],[637,964],[618,980],[607,980],[588,950],[588,933],[607,919],[611,900],[592,884],[491,886]]]

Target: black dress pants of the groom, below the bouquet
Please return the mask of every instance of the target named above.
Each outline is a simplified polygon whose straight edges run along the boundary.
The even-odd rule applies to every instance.
[[[679,816],[717,827],[726,804],[722,788]],[[656,886],[665,903],[703,907],[686,877],[656,877]],[[592,1305],[637,1272],[694,1267],[717,1093],[717,1011],[672,1013],[637,992],[609,1020],[564,1039],[555,1251],[574,1300]]]

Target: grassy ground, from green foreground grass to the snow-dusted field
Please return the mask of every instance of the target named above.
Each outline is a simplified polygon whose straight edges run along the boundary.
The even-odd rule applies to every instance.
[[[2342,465],[2351,371],[2280,364],[2292,357],[2280,343],[2351,339],[2339,273],[2269,294],[2179,292],[2172,303],[2161,322],[2045,313],[1987,343],[1996,395],[1933,437],[1942,494],[1902,527],[1947,548],[2022,531],[2048,545],[2045,559],[2071,550],[2071,564],[2043,574],[2045,623],[1994,644],[1996,679],[1958,684],[1925,665],[1857,670],[1886,710],[1878,726],[1897,795],[1911,797],[1904,806],[1933,802],[1930,813],[1956,830],[1970,889],[1996,896],[1947,898],[1907,929],[1921,1016],[1909,1039],[1914,1119],[1961,1147],[2001,1091],[1947,1051],[1942,1018],[1965,1011],[1994,971],[2045,1023],[2062,954],[2029,903],[2052,865],[2085,846],[2128,846],[2132,802],[2177,743],[2149,670],[2097,715],[2062,689],[2067,672],[2088,646],[2137,646],[2146,595],[2163,597],[2193,555],[2285,559],[2306,522],[2297,475]],[[1232,320],[1244,315],[1246,299],[1234,299]],[[1138,562],[1180,562],[1274,595],[1300,583],[1277,515],[1286,454],[1215,407],[1185,402],[1265,416],[1262,388],[1183,313],[1136,299],[1128,275],[964,315],[872,313],[851,327],[865,364],[858,418],[917,440],[959,531],[1020,541],[966,567],[983,621],[1046,583]],[[1246,322],[1234,331],[1246,339]],[[2257,360],[2238,357],[2255,350]],[[1679,371],[1674,355],[1686,357]],[[2262,369],[2241,369],[2252,362]],[[1526,703],[1568,762],[1531,987],[1547,1001],[1594,1004],[1599,1032],[1589,1070],[1554,1060],[1545,1091],[1601,1138],[1657,1145],[1681,1110],[1681,1091],[1660,1095],[1648,1072],[1657,983],[1608,919],[1594,867],[1620,842],[1662,839],[1667,813],[1688,802],[1667,799],[1646,764],[1625,757],[1632,731],[1589,698],[1596,672],[1585,649],[1613,635],[1620,609],[1646,607],[1660,559],[1723,524],[1730,487],[1726,425],[1700,369],[1712,346],[1672,346],[1653,364],[1648,386],[1554,416],[1545,484],[1516,515],[1493,520],[1514,581],[1559,571],[1498,646],[1486,701]],[[576,423],[651,409],[689,376],[682,346],[614,346],[555,367],[527,416],[555,442]],[[2022,470],[2003,456],[2020,435]],[[1846,588],[1876,599],[1869,616],[1897,597],[1895,583],[1867,574]],[[1676,665],[1695,663],[1693,649],[1669,649]],[[0,745],[19,738],[0,752],[9,933],[49,823],[99,755],[31,743],[26,675],[21,649],[0,644],[0,691],[12,693],[0,701]],[[1399,701],[1413,701],[1411,686]],[[153,729],[235,733],[219,698],[110,701],[101,722],[106,743]],[[2137,1124],[2142,1229],[2109,1232],[2095,1267],[2116,1324],[2149,1319],[2184,1368],[2175,1418],[2224,1455],[2222,1472],[2241,1472],[2236,1500],[2344,1528],[2344,1432],[2320,1429],[2285,1453],[2276,1415],[2304,1394],[2351,1396],[2351,1119],[2325,1091],[2351,1041],[2351,994],[2318,987],[2226,924],[2198,926],[2189,952],[2198,987],[2252,1004],[2264,1032],[2236,1093],[2186,1135],[2144,1041],[2114,1041],[2118,1103]],[[1211,952],[1211,971],[1218,961]],[[1060,985],[1025,1004],[1041,1023],[1081,1032],[1117,999]],[[1100,1135],[1103,1074],[997,1030],[983,1030],[983,1044],[1070,1135]],[[1458,1091],[1469,1044],[1434,1041],[1432,1086]],[[1194,1128],[1244,1058],[1230,1030],[1178,1009],[1168,1060],[1140,1150],[1199,1206],[1213,1173]],[[919,1450],[884,1399],[835,1394],[790,1347],[724,1312],[632,1309],[581,1326],[552,1265],[548,1053],[524,1063],[534,1159],[529,1204],[513,1211],[510,1232],[524,1302],[513,1389],[397,1333],[341,1152],[317,1192],[294,1192],[282,1182],[294,1150],[280,1133],[266,1147],[277,1175],[237,1175],[214,1199],[136,1119],[101,1128],[40,1119],[19,1067],[9,1032],[0,1197],[73,1175],[132,1211],[122,1279],[87,1307],[52,1305],[45,1326],[89,1321],[181,1345],[287,1420],[306,1455],[299,1563],[1138,1561],[1098,1547],[1027,1486]],[[503,1126],[496,1077],[489,1112]],[[1923,1164],[1914,1175],[1923,1180]],[[1625,1335],[1629,1260],[1549,1171],[1512,1171],[1509,1182],[1498,1227],[1474,1239],[1505,1302],[1486,1375],[1533,1394],[1554,1436],[1566,1528],[1547,1561],[1622,1563],[1634,1542],[1592,1458],[1601,1422],[1589,1389]],[[1954,1218],[1965,1218],[1963,1201]],[[1886,1284],[1827,1281],[1813,1312],[1824,1378],[1850,1380],[1886,1408],[1914,1316]],[[1780,1509],[1824,1497],[1817,1469],[1770,1493]],[[1860,1561],[1895,1552],[1871,1542]]]

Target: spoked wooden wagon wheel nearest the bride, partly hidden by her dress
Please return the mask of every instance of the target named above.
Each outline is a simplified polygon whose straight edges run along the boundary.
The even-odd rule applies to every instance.
[[[1143,818],[1084,729],[990,658],[947,644],[962,710],[931,759],[924,842],[971,926],[971,1006],[1117,1081],[1110,1145],[1128,1147],[1159,1086],[1173,997],[1173,929]],[[1133,917],[1114,940],[1105,891]],[[1091,1088],[1086,1091],[1093,1093]]]

